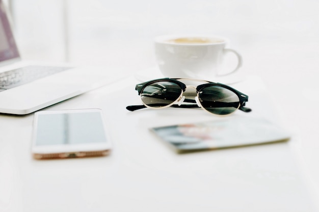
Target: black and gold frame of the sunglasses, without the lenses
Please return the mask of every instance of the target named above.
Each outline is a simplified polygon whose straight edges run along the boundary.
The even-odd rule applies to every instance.
[[[187,86],[185,85],[184,83],[180,82],[179,80],[182,80],[182,81],[195,81],[195,82],[205,82],[204,84],[201,84],[201,85],[198,85],[197,87],[195,86]],[[142,103],[143,105],[131,105],[131,106],[128,106],[126,107],[127,110],[129,111],[135,111],[135,110],[139,110],[139,109],[142,109],[142,108],[151,108],[151,109],[164,109],[164,108],[168,108],[168,107],[180,107],[180,108],[199,108],[201,107],[204,111],[210,113],[210,114],[214,114],[214,113],[211,113],[209,112],[208,110],[206,110],[203,105],[200,103],[199,100],[199,92],[206,88],[206,87],[210,87],[210,86],[219,86],[219,87],[222,87],[222,88],[225,88],[225,89],[228,89],[230,91],[232,91],[233,93],[235,93],[237,96],[238,96],[238,99],[240,100],[240,105],[238,106],[238,110],[241,110],[241,111],[244,111],[244,112],[250,112],[251,109],[249,108],[246,108],[245,105],[246,105],[246,102],[248,101],[248,95],[230,87],[230,86],[227,86],[225,84],[221,84],[221,83],[214,83],[214,82],[209,82],[209,81],[205,81],[205,80],[195,80],[195,79],[191,79],[191,78],[159,78],[159,79],[156,79],[156,80],[151,80],[151,81],[147,81],[147,82],[144,82],[144,83],[140,83],[140,84],[137,84],[136,87],[135,87],[135,90],[138,91],[138,94],[141,95],[143,89],[148,86],[149,84],[153,84],[153,83],[156,83],[156,82],[172,82],[172,83],[175,83],[177,84],[180,88],[181,88],[181,93],[179,95],[179,97],[173,101],[172,103],[168,104],[168,105],[165,105],[163,107],[150,107],[148,106],[147,104],[145,104],[142,100]],[[185,92],[185,90],[188,88],[188,87],[192,87],[196,90],[196,93],[197,93],[197,99],[196,100],[193,100],[193,99],[186,99],[184,96],[183,96],[183,92]],[[178,106],[175,104],[176,102],[179,102],[180,100],[182,99],[181,102],[190,102],[190,103],[197,103],[197,104],[180,104],[178,103]],[[236,111],[236,110],[235,110]],[[235,112],[234,111],[234,112]],[[232,112],[233,113],[233,112]],[[232,114],[230,113],[230,114]],[[218,114],[215,114],[215,115],[218,115]],[[228,114],[226,114],[228,115]],[[225,115],[219,115],[219,116],[225,116]]]

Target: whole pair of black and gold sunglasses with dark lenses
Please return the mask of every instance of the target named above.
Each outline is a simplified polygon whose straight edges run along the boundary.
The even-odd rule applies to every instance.
[[[181,81],[200,82],[197,87],[187,86]],[[193,88],[194,95],[186,90]],[[250,112],[250,108],[244,107],[248,96],[227,85],[188,78],[161,78],[137,84],[135,90],[141,96],[143,105],[130,105],[126,109],[136,111],[143,108],[162,109],[175,108],[202,108],[216,115],[228,115],[237,109]],[[188,98],[187,98],[188,97]],[[189,98],[192,97],[192,98]],[[193,103],[185,104],[184,102]],[[177,104],[176,104],[177,103]]]

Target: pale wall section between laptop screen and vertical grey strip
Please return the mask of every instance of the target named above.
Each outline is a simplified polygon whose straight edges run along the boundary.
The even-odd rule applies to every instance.
[[[62,1],[12,0],[12,19],[24,59],[64,60]]]

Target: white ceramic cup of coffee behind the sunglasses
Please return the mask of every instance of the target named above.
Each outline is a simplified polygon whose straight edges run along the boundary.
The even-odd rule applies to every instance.
[[[243,63],[242,56],[226,48],[227,38],[203,35],[165,35],[154,39],[155,57],[159,70],[166,77],[214,78],[236,72]],[[222,70],[227,52],[237,58],[233,70]]]

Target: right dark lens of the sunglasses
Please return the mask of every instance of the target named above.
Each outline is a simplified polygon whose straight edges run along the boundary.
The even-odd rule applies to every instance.
[[[240,99],[233,91],[221,86],[208,86],[198,93],[202,107],[210,113],[227,115],[240,107]]]

